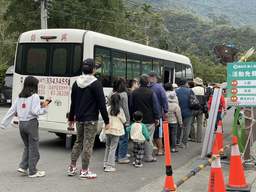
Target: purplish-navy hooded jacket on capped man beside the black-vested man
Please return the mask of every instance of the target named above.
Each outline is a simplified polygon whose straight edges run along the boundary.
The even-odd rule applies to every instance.
[[[149,87],[156,93],[157,103],[159,111],[162,111],[164,109],[164,113],[168,113],[168,100],[166,97],[166,93],[164,91],[164,87],[160,84],[157,84],[154,81],[150,81]],[[163,114],[160,113],[160,118],[163,117]]]

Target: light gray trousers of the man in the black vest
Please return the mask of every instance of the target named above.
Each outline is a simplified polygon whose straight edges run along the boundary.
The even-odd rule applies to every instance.
[[[153,140],[156,125],[154,123],[151,123],[151,124],[145,124],[145,126],[147,127],[150,142],[151,142],[150,144],[148,144],[148,141],[145,140],[145,157],[146,157],[146,161],[150,161],[152,160],[152,153],[153,153],[153,147],[154,147],[152,140]]]

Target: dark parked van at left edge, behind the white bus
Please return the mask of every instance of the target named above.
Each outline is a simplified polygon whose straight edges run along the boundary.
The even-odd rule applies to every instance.
[[[14,65],[9,67],[5,72],[5,79],[1,87],[1,103],[12,105],[12,81],[13,81]]]

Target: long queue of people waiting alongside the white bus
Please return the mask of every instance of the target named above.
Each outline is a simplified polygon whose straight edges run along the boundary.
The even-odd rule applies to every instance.
[[[103,133],[106,135],[106,150],[103,159],[103,168],[106,172],[116,171],[115,162],[128,164],[127,154],[129,133],[132,142],[132,164],[142,167],[145,153],[145,162],[156,162],[153,157],[154,142],[157,146],[156,156],[165,155],[163,146],[162,119],[168,121],[169,143],[172,153],[179,152],[177,146],[188,148],[188,141],[202,142],[202,121],[204,101],[207,99],[210,111],[212,94],[209,96],[207,83],[196,77],[194,81],[180,78],[180,87],[177,84],[158,84],[161,77],[156,71],[140,76],[138,80],[130,80],[130,90],[126,88],[124,77],[117,77],[113,82],[113,90],[108,95],[108,107],[105,103],[103,86],[94,77],[96,64],[93,59],[83,61],[83,75],[79,76],[72,85],[71,104],[68,127],[74,127],[76,116],[77,139],[72,149],[68,167],[68,175],[77,172],[76,162],[82,150],[82,168],[79,179],[95,179],[97,174],[89,171],[92,148],[98,130],[99,113],[104,121]],[[18,112],[20,120],[20,135],[25,149],[20,163],[19,172],[29,174],[29,177],[42,177],[45,172],[36,169],[39,160],[38,152],[38,121],[39,115],[48,112],[48,105],[40,108],[40,99],[37,95],[38,80],[28,76],[24,81],[24,88],[19,94],[1,124],[5,129],[12,117]],[[192,88],[194,87],[194,88]],[[214,88],[220,88],[215,85]],[[206,89],[206,90],[205,90]],[[200,103],[200,108],[193,111],[189,99],[193,95]],[[224,113],[225,100],[221,95],[217,120],[220,120],[222,108]],[[86,98],[86,99],[84,99]],[[90,102],[88,102],[90,101]],[[206,112],[207,114],[207,112]],[[194,119],[197,119],[195,133]],[[83,148],[83,149],[82,149]]]

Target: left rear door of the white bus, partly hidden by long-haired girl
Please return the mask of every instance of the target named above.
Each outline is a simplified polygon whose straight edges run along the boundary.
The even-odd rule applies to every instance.
[[[48,79],[50,71],[52,44],[28,43],[25,44],[21,90],[27,76],[34,76],[39,80],[38,95],[41,103],[48,98]],[[39,116],[38,120],[47,121],[47,114]]]

